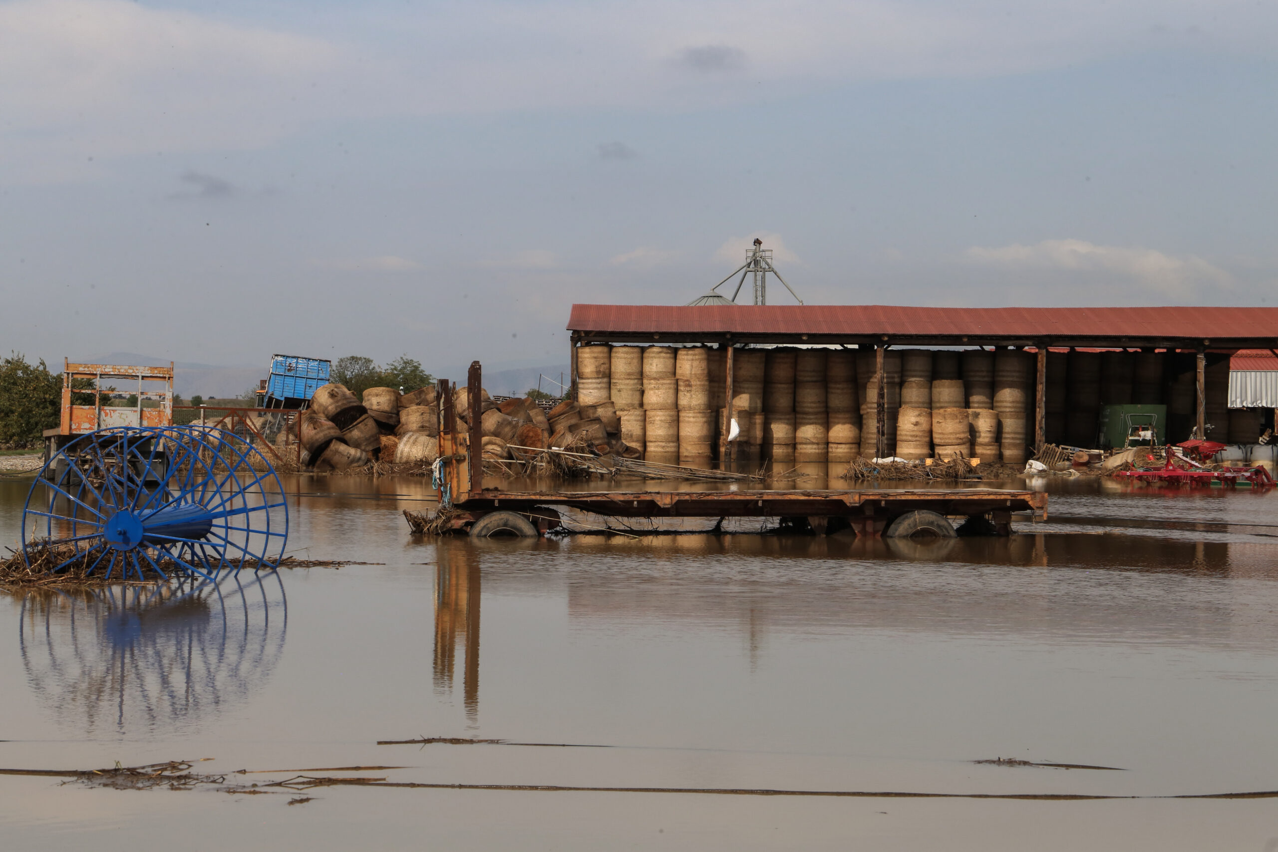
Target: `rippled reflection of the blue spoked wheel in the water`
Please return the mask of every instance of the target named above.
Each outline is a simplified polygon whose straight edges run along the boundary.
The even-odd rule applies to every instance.
[[[288,605],[275,571],[158,586],[32,591],[18,643],[59,723],[135,734],[207,722],[266,682]]]

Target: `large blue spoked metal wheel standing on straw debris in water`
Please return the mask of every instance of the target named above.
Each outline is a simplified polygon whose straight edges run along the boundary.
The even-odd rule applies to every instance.
[[[280,478],[249,442],[207,427],[118,427],[68,443],[27,494],[23,553],[56,548],[106,580],[150,570],[213,579],[279,567],[289,536]]]

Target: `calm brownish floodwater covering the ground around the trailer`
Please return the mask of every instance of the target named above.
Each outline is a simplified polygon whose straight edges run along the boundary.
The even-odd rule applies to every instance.
[[[0,766],[952,797],[326,787],[293,806],[0,775],[0,842],[1278,849],[1278,798],[1166,798],[1278,789],[1278,492],[1039,482],[1048,521],[929,547],[413,540],[400,512],[426,482],[290,476],[289,551],[377,565],[0,595]],[[28,484],[0,480],[3,543]],[[417,737],[608,747],[377,745]],[[973,763],[994,757],[1121,772]]]

